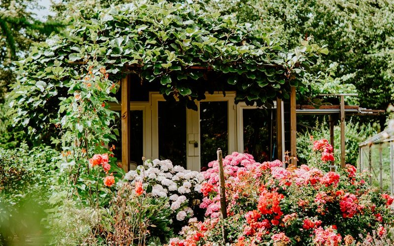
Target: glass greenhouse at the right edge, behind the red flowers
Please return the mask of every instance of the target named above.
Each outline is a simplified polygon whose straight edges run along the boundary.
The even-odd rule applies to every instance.
[[[370,184],[381,191],[394,191],[394,129],[386,129],[359,145],[359,170],[370,171]]]

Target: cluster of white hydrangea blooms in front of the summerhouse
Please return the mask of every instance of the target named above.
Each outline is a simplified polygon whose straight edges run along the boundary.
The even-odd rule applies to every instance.
[[[168,197],[174,216],[179,221],[194,215],[189,207],[189,201],[200,192],[204,176],[196,171],[187,170],[181,166],[173,166],[170,160],[147,160],[125,175],[131,184],[139,181],[144,183],[144,189],[152,185],[151,194],[154,197]]]

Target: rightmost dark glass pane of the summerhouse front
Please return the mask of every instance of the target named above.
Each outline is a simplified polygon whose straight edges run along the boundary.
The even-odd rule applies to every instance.
[[[275,113],[275,110],[243,110],[244,153],[252,154],[258,162],[277,157]]]

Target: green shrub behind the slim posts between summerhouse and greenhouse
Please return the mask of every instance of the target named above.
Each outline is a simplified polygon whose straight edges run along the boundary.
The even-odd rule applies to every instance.
[[[297,157],[303,164],[310,163],[313,158],[311,136],[314,139],[329,139],[329,126],[327,123],[316,123],[315,130],[306,130],[297,134]],[[359,156],[359,144],[368,137],[376,133],[376,130],[370,125],[362,125],[353,120],[346,123],[345,146],[346,146],[346,163],[357,166]],[[340,127],[334,127],[334,156],[335,164],[340,163],[341,141]]]

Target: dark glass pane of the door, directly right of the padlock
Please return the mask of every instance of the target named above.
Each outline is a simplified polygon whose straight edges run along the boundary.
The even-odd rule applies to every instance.
[[[229,154],[228,102],[200,102],[200,154],[201,170],[208,162],[217,159],[216,151],[221,148],[223,157]]]

